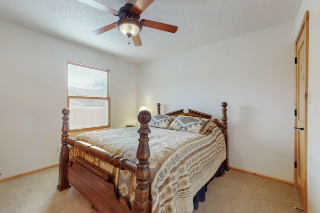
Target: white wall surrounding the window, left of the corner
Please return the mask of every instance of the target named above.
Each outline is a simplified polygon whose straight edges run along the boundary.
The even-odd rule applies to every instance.
[[[136,122],[135,64],[2,20],[0,28],[0,179],[58,163],[67,60],[111,70],[111,128]]]

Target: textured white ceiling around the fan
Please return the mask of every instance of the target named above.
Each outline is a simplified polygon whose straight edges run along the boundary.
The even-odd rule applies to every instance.
[[[135,0],[96,0],[115,10]],[[134,63],[294,20],[301,0],[154,0],[140,15],[178,26],[175,33],[143,27],[142,46],[127,45],[117,28],[91,31],[118,17],[77,0],[0,0],[0,19],[103,51]]]

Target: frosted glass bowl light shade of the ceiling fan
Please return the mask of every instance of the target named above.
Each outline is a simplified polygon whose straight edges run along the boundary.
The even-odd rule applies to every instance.
[[[128,37],[138,34],[142,29],[142,24],[134,19],[121,18],[115,22],[119,31]]]

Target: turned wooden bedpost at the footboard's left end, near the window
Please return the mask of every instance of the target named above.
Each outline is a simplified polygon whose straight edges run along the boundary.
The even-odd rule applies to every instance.
[[[61,129],[61,151],[60,151],[60,158],[59,158],[59,184],[56,188],[59,191],[65,190],[70,188],[69,182],[66,180],[66,167],[69,161],[69,148],[67,144],[67,138],[69,136],[69,113],[70,110],[68,108],[64,108],[62,110],[62,129]]]

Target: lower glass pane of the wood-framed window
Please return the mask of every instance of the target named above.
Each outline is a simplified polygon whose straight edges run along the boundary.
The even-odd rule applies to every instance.
[[[70,98],[70,129],[101,127],[109,124],[107,99]]]

